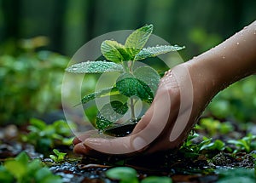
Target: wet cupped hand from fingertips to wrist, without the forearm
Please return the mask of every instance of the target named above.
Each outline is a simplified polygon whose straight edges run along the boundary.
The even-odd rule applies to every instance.
[[[181,146],[211,96],[205,84],[191,79],[189,70],[189,66],[183,64],[166,72],[152,105],[130,135],[96,137],[97,131],[92,130],[73,140],[74,152],[131,156]]]

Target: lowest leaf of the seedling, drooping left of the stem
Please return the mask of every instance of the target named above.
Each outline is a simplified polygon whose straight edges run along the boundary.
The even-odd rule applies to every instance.
[[[106,104],[96,116],[97,129],[106,129],[119,118],[123,117],[127,111],[127,103],[123,104],[118,100],[114,100]]]

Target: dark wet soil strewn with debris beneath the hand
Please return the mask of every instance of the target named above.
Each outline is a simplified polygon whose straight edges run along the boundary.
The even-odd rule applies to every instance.
[[[40,158],[54,174],[61,176],[63,182],[115,183],[118,181],[106,177],[106,170],[116,166],[128,166],[137,169],[140,180],[149,175],[159,175],[172,177],[173,182],[212,183],[218,180],[216,169],[235,167],[253,169],[253,161],[255,161],[249,153],[237,153],[234,156],[228,152],[214,152],[209,158],[208,154],[191,157],[187,152],[181,151],[159,152],[150,156],[132,158],[93,158],[75,156],[72,147],[60,146],[59,150],[67,152],[68,156],[65,161],[55,163],[47,158],[49,155],[36,152],[34,146],[21,143],[12,128],[15,127],[9,129],[14,132],[12,135],[2,135],[0,138],[0,161],[3,162],[25,151],[31,158]],[[3,134],[3,131],[0,130],[0,137],[1,133]]]

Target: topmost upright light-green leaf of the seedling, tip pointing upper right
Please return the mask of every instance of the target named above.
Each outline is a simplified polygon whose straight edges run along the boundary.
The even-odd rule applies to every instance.
[[[133,31],[125,41],[125,48],[128,53],[131,54],[131,59],[133,60],[135,55],[137,55],[144,45],[147,43],[154,27],[152,24],[148,26],[143,26],[136,31]]]

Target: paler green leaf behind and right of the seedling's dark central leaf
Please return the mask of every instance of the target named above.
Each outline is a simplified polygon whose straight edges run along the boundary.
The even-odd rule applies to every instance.
[[[155,94],[160,83],[160,75],[150,66],[138,67],[134,72],[134,76],[143,83],[147,84],[152,93]]]

